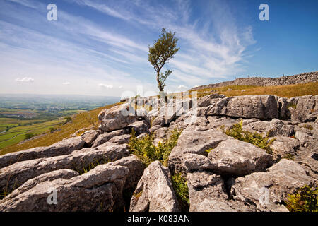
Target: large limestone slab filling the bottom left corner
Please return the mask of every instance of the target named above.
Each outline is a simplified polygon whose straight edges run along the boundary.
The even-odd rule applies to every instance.
[[[20,187],[19,192],[7,196],[0,203],[0,211],[119,210],[124,207],[124,190],[136,186],[143,169],[140,160],[129,156],[116,162],[98,165],[90,172],[76,177],[70,172],[61,177],[61,170],[56,173],[59,176],[53,176],[54,172],[50,172],[37,177],[37,183],[35,179],[29,180]],[[42,179],[42,182],[39,179]],[[30,187],[30,184],[35,186]],[[57,203],[49,203],[50,195],[54,192],[57,195]]]

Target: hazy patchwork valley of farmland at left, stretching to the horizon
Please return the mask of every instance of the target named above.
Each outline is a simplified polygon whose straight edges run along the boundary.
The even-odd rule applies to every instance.
[[[73,115],[118,100],[117,97],[0,95],[0,150],[57,131]]]

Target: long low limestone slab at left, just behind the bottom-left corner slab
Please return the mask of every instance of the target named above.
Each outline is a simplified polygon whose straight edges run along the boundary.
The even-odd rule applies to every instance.
[[[16,162],[4,167],[0,169],[0,191],[10,193],[28,179],[57,169],[82,171],[84,167],[88,167],[91,163],[119,160],[129,155],[127,145],[110,144],[105,143],[98,148],[75,150],[69,155]]]

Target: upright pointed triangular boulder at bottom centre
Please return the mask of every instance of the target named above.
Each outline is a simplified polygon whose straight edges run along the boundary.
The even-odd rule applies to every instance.
[[[131,198],[129,211],[176,212],[179,210],[169,169],[161,165],[159,161],[151,162],[138,182]]]

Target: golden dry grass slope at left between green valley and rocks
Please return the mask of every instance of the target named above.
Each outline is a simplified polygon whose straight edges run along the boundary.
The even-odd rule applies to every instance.
[[[119,105],[119,104],[120,103],[116,103],[114,105]],[[71,122],[64,124],[62,126],[59,126],[57,128],[59,129],[59,131],[55,131],[53,133],[48,132],[44,136],[35,138],[32,141],[27,141],[25,143],[8,146],[1,150],[0,155],[16,152],[18,150],[25,150],[28,148],[49,146],[49,145],[52,145],[53,143],[56,143],[58,141],[63,140],[64,138],[71,136],[73,133],[75,133],[79,129],[83,129],[86,127],[93,127],[97,129],[98,114],[100,113],[100,111],[105,108],[113,107],[114,105],[107,105],[105,107],[93,109],[89,112],[82,112],[82,113],[76,114],[72,117]]]

